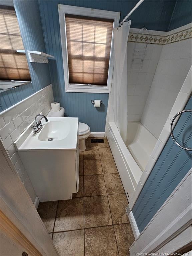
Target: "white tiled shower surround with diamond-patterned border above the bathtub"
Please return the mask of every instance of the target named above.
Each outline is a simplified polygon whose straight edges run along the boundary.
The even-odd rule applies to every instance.
[[[145,45],[145,37],[141,36],[137,39],[140,43],[135,44],[138,31],[130,29],[127,45],[128,121],[141,121],[158,138],[191,65],[191,24],[169,32],[149,30],[149,43],[142,66],[133,65],[133,59],[136,62],[139,59],[133,58],[134,48]],[[176,66],[179,69],[177,72]],[[159,67],[164,68],[163,73]],[[113,89],[109,95],[106,124],[108,122],[114,122]]]

